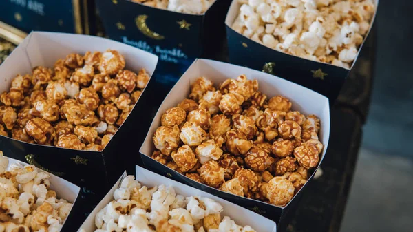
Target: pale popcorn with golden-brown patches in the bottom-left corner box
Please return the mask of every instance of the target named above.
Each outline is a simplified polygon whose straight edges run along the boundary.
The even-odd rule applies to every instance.
[[[50,189],[50,175],[33,165],[9,165],[0,151],[0,231],[59,232],[72,204]]]

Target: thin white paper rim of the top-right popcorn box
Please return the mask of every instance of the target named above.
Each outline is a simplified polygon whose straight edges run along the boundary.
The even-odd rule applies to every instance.
[[[249,41],[251,41],[251,42],[253,42],[253,43],[255,43],[255,44],[258,44],[258,45],[260,45],[260,46],[262,46],[262,47],[264,47],[264,48],[271,49],[271,50],[275,51],[275,53],[286,54],[286,55],[288,55],[288,56],[297,57],[297,58],[300,59],[301,61],[306,61],[306,62],[307,62],[307,61],[310,61],[310,63],[318,63],[318,64],[329,65],[329,66],[332,66],[332,67],[337,67],[337,69],[347,70],[348,72],[350,72],[350,70],[352,70],[352,68],[354,67],[354,64],[356,63],[357,59],[359,58],[359,54],[360,54],[360,52],[361,52],[361,48],[363,48],[364,43],[366,43],[366,39],[367,39],[367,37],[369,36],[369,34],[370,34],[370,32],[371,32],[371,30],[372,30],[372,28],[373,28],[373,24],[374,24],[374,21],[375,21],[376,16],[377,16],[377,8],[379,7],[379,0],[373,0],[373,1],[374,1],[374,3],[375,3],[375,4],[374,4],[375,10],[374,10],[373,17],[372,17],[372,19],[371,19],[371,21],[370,21],[370,27],[369,27],[369,29],[368,29],[368,32],[366,33],[366,36],[364,36],[364,38],[363,38],[363,43],[361,43],[361,45],[359,46],[359,48],[358,48],[358,50],[357,50],[357,56],[356,56],[356,58],[354,59],[354,61],[352,61],[352,65],[350,66],[350,68],[340,67],[340,66],[332,65],[332,64],[330,64],[330,63],[324,63],[324,62],[321,62],[321,61],[313,61],[313,60],[310,60],[310,59],[302,58],[302,57],[300,57],[300,56],[294,56],[294,55],[288,54],[288,53],[286,53],[286,52],[279,52],[279,51],[277,51],[277,50],[275,50],[275,49],[273,49],[273,48],[268,48],[268,47],[266,47],[266,46],[263,45],[262,43],[257,43],[256,41],[253,41],[252,39],[248,38],[247,36],[244,36],[244,34],[240,34],[240,33],[236,32],[235,30],[233,30],[232,25],[233,25],[235,19],[236,19],[236,18],[238,17],[238,15],[239,15],[239,10],[240,10],[240,7],[239,7],[239,6],[241,5],[241,3],[240,3],[239,1],[237,1],[237,0],[232,0],[232,2],[231,2],[231,6],[229,7],[229,10],[228,10],[228,12],[227,12],[227,14],[226,14],[225,25],[226,25],[226,28],[231,29],[231,30],[233,30],[233,32],[244,36],[244,37],[245,37],[246,39],[248,39]],[[227,36],[228,36],[228,34],[227,34]]]

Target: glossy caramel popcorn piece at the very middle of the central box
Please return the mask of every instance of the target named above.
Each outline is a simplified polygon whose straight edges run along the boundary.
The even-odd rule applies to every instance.
[[[235,156],[246,154],[253,147],[253,142],[247,140],[244,133],[237,129],[226,132],[226,149]]]

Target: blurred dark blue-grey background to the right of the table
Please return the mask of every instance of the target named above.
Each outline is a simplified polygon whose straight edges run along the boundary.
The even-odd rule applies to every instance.
[[[412,231],[413,2],[380,1],[372,102],[341,232]]]

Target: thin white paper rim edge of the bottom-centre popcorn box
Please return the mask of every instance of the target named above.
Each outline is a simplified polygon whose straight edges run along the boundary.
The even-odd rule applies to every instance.
[[[196,191],[202,191],[202,190],[200,190],[200,189],[195,189],[195,188],[193,188],[193,187],[190,187],[190,186],[187,186],[186,184],[182,184],[182,183],[180,183],[180,182],[178,182],[178,181],[176,181],[176,180],[171,180],[171,179],[169,179],[169,178],[166,178],[165,176],[160,176],[158,173],[154,173],[154,172],[152,172],[152,171],[149,171],[149,170],[147,170],[147,169],[145,169],[145,168],[142,168],[142,167],[139,167],[139,166],[137,166],[136,165],[136,167],[135,167],[135,169],[136,169],[136,171],[135,171],[135,177],[136,177],[136,180],[138,180],[138,181],[141,181],[140,180],[140,178],[138,177],[138,173],[142,173],[143,175],[145,175],[145,174],[151,174],[151,175],[153,175],[153,176],[156,176],[156,178],[158,178],[158,179],[160,179],[160,182],[173,182],[173,185],[172,185],[172,187],[180,187],[180,188],[186,188],[186,189],[189,189],[190,191],[194,191],[194,190],[196,190]],[[118,179],[118,181],[114,184],[114,186],[112,187],[112,189],[110,189],[108,192],[107,192],[107,194],[105,195],[105,197],[103,197],[102,198],[102,200],[100,200],[100,202],[96,205],[96,207],[95,207],[95,209],[92,211],[92,213],[90,213],[89,214],[89,216],[86,218],[86,220],[83,222],[83,224],[81,225],[81,227],[78,229],[78,231],[80,231],[81,229],[85,229],[85,227],[88,227],[88,226],[90,226],[90,224],[89,223],[92,223],[93,222],[93,225],[94,225],[94,218],[96,217],[96,214],[98,213],[98,211],[100,211],[100,209],[103,209],[103,207],[105,207],[105,205],[106,204],[108,204],[110,201],[112,201],[113,200],[113,193],[114,193],[114,191],[115,191],[115,189],[117,189],[119,186],[120,186],[120,183],[122,182],[122,180],[125,178],[127,176],[127,173],[126,173],[126,171],[122,174],[122,176],[120,176],[120,178]],[[165,184],[166,185],[166,184]],[[145,185],[146,186],[146,185]],[[222,198],[220,198],[220,197],[218,197],[218,196],[214,196],[213,194],[211,194],[211,193],[208,193],[208,192],[206,192],[206,191],[202,191],[202,193],[204,193],[204,195],[207,195],[207,198],[210,198],[210,197],[213,197],[213,198],[217,198],[217,199],[213,199],[213,200],[215,200],[215,201],[217,201],[218,202],[218,200],[219,200],[219,203],[222,203],[222,202],[224,202],[224,204],[229,204],[229,205],[232,205],[233,207],[235,206],[235,207],[240,207],[239,205],[237,205],[237,204],[234,204],[234,203],[232,203],[232,202],[229,202],[228,200],[224,200],[224,199],[222,199]],[[191,193],[187,193],[187,194],[184,194],[184,193],[181,193],[181,195],[182,196],[184,196],[184,197],[187,197],[187,196],[189,196],[189,194],[191,194]],[[242,207],[240,207],[240,208],[242,208]],[[268,231],[268,232],[277,232],[277,223],[276,222],[273,222],[273,221],[271,221],[271,220],[269,220],[268,218],[265,218],[264,216],[262,216],[262,215],[259,215],[259,214],[257,214],[257,213],[254,213],[253,211],[251,211],[251,210],[249,210],[249,209],[245,209],[245,208],[242,208],[242,210],[245,210],[245,211],[248,211],[248,212],[250,212],[250,213],[252,213],[252,214],[255,214],[258,218],[261,218],[262,220],[266,220],[267,222],[268,222],[268,224],[273,224],[273,230],[272,231]],[[231,220],[233,220],[233,218],[231,218]],[[237,223],[240,223],[240,222],[237,222]],[[248,223],[247,223],[248,224]],[[254,228],[253,228],[254,229]],[[92,231],[86,231],[86,232],[92,232]]]

